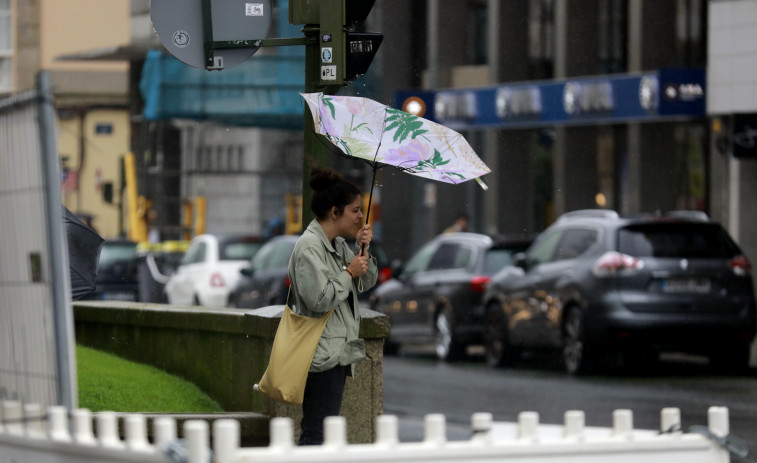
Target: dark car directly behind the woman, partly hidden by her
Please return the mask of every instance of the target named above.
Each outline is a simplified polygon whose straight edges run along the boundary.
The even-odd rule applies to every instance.
[[[285,235],[271,238],[252,258],[249,266],[243,267],[242,277],[229,295],[229,306],[256,309],[268,305],[284,304],[289,290],[289,258],[299,236]],[[350,246],[354,238],[347,239]],[[379,267],[376,286],[389,278],[391,273],[389,258],[378,241],[372,241],[368,251],[376,257]],[[375,289],[359,293],[358,300],[368,299]]]

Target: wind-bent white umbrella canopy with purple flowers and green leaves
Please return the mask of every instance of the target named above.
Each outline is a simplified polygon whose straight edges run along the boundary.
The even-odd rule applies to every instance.
[[[446,183],[491,172],[458,132],[362,97],[304,93],[315,131],[344,154]],[[375,170],[374,170],[375,172]]]

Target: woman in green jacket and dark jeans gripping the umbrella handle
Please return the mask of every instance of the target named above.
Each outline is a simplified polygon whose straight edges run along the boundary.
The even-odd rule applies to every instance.
[[[317,167],[311,168],[310,187],[316,218],[297,240],[289,261],[290,307],[310,317],[336,310],[310,365],[300,445],[323,443],[324,418],[339,415],[346,377],[365,358],[365,344],[358,337],[357,292],[376,284],[378,274],[376,259],[368,254],[373,232],[363,225],[360,190],[341,175]],[[353,252],[342,235],[355,235],[364,251]]]

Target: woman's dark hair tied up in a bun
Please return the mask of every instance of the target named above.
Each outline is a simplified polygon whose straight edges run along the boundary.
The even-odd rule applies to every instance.
[[[317,166],[310,167],[310,188],[313,190],[310,209],[320,220],[325,219],[334,206],[341,214],[345,206],[360,196],[360,189],[354,183],[331,169]]]

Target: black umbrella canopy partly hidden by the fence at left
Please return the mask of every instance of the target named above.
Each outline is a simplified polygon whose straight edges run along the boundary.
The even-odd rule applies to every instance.
[[[63,225],[68,242],[71,296],[77,300],[95,290],[97,263],[105,240],[65,206],[63,206]]]

